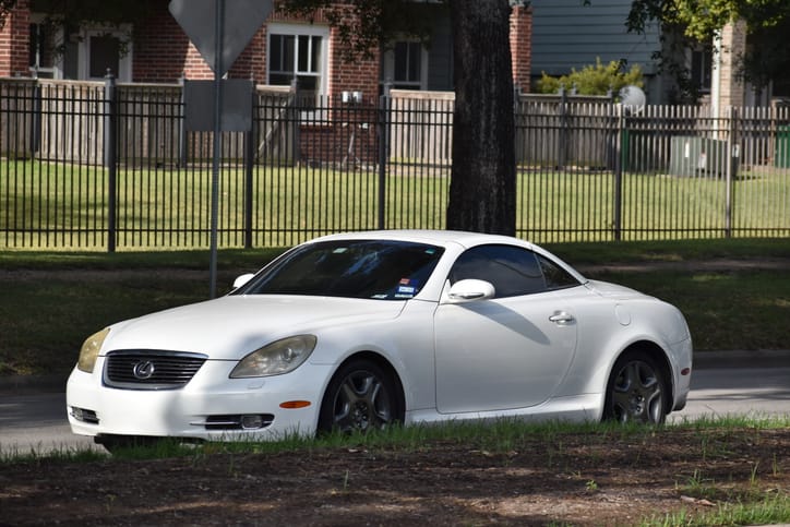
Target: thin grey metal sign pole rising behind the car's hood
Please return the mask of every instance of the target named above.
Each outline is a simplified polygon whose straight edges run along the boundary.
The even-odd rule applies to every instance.
[[[217,296],[217,230],[219,228],[219,158],[222,142],[223,111],[223,28],[225,27],[225,0],[217,0],[214,13],[214,153],[212,159],[212,232],[211,257],[208,263],[210,298]]]

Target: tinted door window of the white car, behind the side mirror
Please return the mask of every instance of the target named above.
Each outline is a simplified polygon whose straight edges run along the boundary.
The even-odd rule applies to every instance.
[[[535,253],[510,245],[480,245],[458,256],[450,273],[451,284],[476,278],[490,282],[496,297],[546,291],[543,272]]]

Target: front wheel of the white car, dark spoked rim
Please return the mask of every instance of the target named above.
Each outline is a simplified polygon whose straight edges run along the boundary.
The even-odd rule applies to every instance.
[[[352,360],[335,372],[326,387],[319,432],[366,432],[403,422],[398,393],[393,376],[379,364]]]

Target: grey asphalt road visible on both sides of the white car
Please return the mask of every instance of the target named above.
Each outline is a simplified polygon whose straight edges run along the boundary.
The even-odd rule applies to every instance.
[[[790,416],[790,366],[696,369],[689,404],[671,414],[670,422],[704,416]],[[0,456],[44,454],[96,447],[88,438],[71,433],[62,393],[3,393],[0,396]]]

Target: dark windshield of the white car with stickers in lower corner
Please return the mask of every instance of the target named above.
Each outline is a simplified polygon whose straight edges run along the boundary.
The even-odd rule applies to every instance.
[[[419,294],[443,252],[441,247],[390,240],[308,243],[235,294],[407,300]]]

